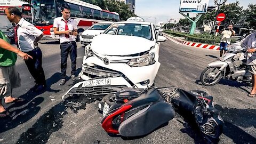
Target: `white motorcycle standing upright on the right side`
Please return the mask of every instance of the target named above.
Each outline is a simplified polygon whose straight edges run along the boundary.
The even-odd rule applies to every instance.
[[[200,76],[202,84],[206,86],[215,85],[221,78],[250,83],[252,76],[246,65],[246,57],[247,53],[241,47],[241,41],[229,45],[228,51],[219,61],[209,63],[203,70]]]

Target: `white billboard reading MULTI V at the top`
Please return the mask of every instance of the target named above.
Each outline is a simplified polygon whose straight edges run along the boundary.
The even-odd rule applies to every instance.
[[[206,13],[209,0],[180,1],[180,13]]]

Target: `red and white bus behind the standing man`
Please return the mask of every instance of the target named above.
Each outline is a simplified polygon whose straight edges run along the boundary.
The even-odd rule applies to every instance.
[[[60,6],[62,3],[67,3],[70,6],[70,18],[77,21],[77,41],[79,41],[79,36],[83,31],[94,23],[101,21],[119,21],[118,13],[102,10],[97,5],[79,0],[31,0],[31,21],[36,28],[43,31],[45,38],[59,39],[59,36],[54,35],[53,21],[55,18],[61,17]],[[27,5],[25,4],[23,7],[24,6]],[[22,9],[22,12],[27,9]]]

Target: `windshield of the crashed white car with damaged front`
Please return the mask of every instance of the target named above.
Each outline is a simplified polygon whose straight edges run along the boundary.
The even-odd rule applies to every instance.
[[[105,30],[104,34],[138,36],[149,40],[153,39],[150,25],[138,23],[116,23]]]

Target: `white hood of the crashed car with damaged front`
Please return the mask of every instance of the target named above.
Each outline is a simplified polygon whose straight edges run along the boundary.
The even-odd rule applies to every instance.
[[[101,55],[130,55],[148,51],[154,45],[142,37],[102,34],[93,38],[91,49]]]

